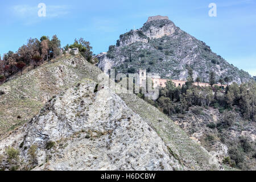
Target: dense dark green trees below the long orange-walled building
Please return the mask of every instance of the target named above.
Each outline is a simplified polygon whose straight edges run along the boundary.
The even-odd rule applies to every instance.
[[[241,85],[233,82],[229,85],[232,78],[220,78],[218,82],[226,83],[225,90],[216,84],[215,74],[209,73],[209,84],[211,86],[193,86],[193,71],[188,70],[187,82],[183,86],[175,86],[172,81],[167,81],[166,88],[160,88],[159,98],[155,101],[148,100],[143,94],[139,97],[158,107],[167,115],[184,114],[191,106],[215,107],[221,113],[224,110],[233,110],[238,107],[245,119],[256,121],[256,82],[251,80]],[[197,77],[196,82],[200,82]],[[213,92],[214,90],[214,92]],[[223,92],[224,91],[224,92]]]

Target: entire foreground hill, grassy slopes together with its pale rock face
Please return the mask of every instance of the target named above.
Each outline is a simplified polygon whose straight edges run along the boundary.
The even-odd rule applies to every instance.
[[[44,75],[48,79],[40,72],[48,73]],[[62,57],[3,84],[5,94],[0,96],[1,101],[20,101],[13,107],[19,109],[23,122],[29,122],[14,130],[20,122],[12,120],[17,113],[10,114],[11,105],[3,107],[2,133],[10,132],[0,140],[0,167],[18,164],[18,169],[38,170],[223,169],[212,163],[214,158],[207,150],[154,106],[134,94],[117,96],[109,92],[108,85],[98,85],[100,73],[80,56]],[[26,81],[26,77],[36,81]],[[42,84],[42,80],[48,84]],[[13,89],[7,89],[10,85]],[[24,91],[18,92],[21,88]],[[22,96],[38,105],[24,107]],[[13,161],[12,166],[7,160],[7,147],[19,151],[20,160]]]

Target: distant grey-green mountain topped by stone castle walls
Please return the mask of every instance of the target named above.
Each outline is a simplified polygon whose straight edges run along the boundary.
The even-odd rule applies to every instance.
[[[106,73],[110,68],[122,73],[134,71],[129,68],[149,68],[148,72],[159,73],[163,78],[185,80],[189,66],[194,76],[204,82],[210,71],[217,78],[231,76],[238,84],[251,78],[162,16],[151,17],[139,30],[120,35],[117,45],[110,46],[108,54],[98,58],[98,67]]]

